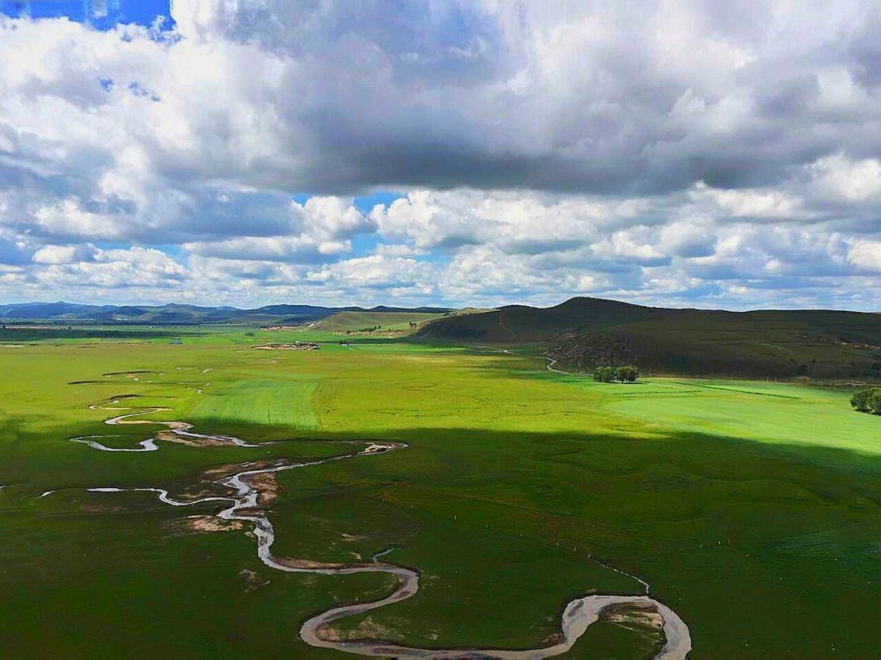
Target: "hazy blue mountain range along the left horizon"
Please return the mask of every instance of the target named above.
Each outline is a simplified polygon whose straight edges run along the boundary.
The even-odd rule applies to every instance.
[[[203,323],[303,323],[324,319],[337,312],[423,312],[444,313],[441,307],[322,307],[311,304],[268,304],[256,309],[237,307],[203,307],[195,304],[169,303],[163,305],[115,305],[56,303],[0,304],[0,321],[55,321],[110,324],[169,324],[189,325]]]

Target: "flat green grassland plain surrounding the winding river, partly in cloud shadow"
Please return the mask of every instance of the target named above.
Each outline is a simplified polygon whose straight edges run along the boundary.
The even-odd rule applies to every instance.
[[[87,489],[223,495],[206,471],[368,442],[407,446],[275,473],[266,505],[278,557],[388,551],[418,569],[412,598],[334,622],[343,639],[537,648],[570,600],[638,594],[638,576],[687,624],[692,660],[878,656],[881,418],[851,412],[847,389],[597,384],[492,346],[270,351],[250,347],[301,335],[177,334],[0,348],[4,657],[354,657],[308,646],[300,625],[382,598],[390,576],[284,573],[248,527],[194,526],[217,502]],[[104,421],[148,409],[130,421],[256,446],[70,442],[137,448],[164,427]],[[658,643],[602,620],[558,657],[648,660]]]

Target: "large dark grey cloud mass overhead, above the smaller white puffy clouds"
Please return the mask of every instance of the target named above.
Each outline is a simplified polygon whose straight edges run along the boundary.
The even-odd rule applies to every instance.
[[[850,71],[865,84],[877,68],[881,21],[869,5],[240,2],[210,18],[176,12],[185,33],[257,43],[291,62],[273,110],[300,165],[258,168],[282,187],[657,194],[700,180],[776,185],[823,156],[881,148],[869,130],[878,99],[841,99],[833,80]]]

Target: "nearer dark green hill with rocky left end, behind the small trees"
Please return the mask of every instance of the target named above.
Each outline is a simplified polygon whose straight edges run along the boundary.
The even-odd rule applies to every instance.
[[[569,369],[636,363],[664,373],[879,378],[881,317],[856,312],[704,312],[571,330],[548,355]]]

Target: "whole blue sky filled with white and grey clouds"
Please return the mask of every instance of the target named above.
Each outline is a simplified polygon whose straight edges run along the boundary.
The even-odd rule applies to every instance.
[[[881,4],[0,0],[0,303],[881,312]]]

